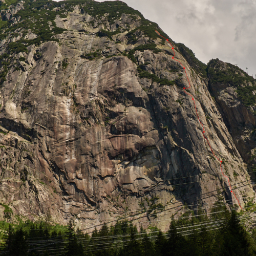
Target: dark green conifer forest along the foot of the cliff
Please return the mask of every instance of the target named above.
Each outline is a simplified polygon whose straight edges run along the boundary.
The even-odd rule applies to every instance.
[[[191,214],[192,213],[192,214]],[[209,214],[199,209],[197,215],[187,209],[163,232],[150,226],[137,229],[132,221],[102,223],[91,233],[54,224],[48,214],[38,222],[19,219],[18,224],[1,222],[3,255],[66,256],[236,256],[256,255],[256,229],[248,232],[242,224],[244,215],[216,204]]]

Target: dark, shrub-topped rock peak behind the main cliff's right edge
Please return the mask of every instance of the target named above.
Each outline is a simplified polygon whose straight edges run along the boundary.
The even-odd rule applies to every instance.
[[[238,67],[220,60],[211,60],[208,70],[209,90],[234,144],[255,177],[252,166],[256,155],[255,81]]]

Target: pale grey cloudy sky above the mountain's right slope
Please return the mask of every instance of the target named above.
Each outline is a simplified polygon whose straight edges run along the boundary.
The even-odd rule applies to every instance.
[[[103,2],[103,0],[97,0]],[[219,58],[256,75],[256,0],[123,0],[206,63]]]

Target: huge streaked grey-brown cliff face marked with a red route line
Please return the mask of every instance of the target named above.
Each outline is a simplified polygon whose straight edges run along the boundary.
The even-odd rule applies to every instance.
[[[101,5],[52,3],[49,30],[66,31],[38,44],[31,28],[28,33],[35,36],[19,52],[10,50],[12,34],[1,42],[1,55],[9,55],[1,60],[2,204],[31,219],[50,209],[56,222],[75,218],[82,227],[137,213],[140,221],[161,220],[161,228],[185,203],[210,207],[223,189],[224,200],[238,204],[203,138],[194,102],[183,91],[188,87],[184,69],[167,42],[146,33],[148,21],[141,14],[121,12],[124,3],[118,3],[116,17],[108,11],[95,16]],[[115,11],[115,5],[108,8]],[[163,33],[156,24],[147,25]],[[20,41],[26,36],[23,29],[15,32]],[[253,190],[239,188],[249,176],[241,140],[226,126],[234,112],[222,94],[218,104],[212,99],[208,78],[194,72],[191,59],[174,48],[205,136],[244,206]],[[238,122],[254,125],[254,116],[242,106],[235,111]],[[164,206],[170,209],[161,212]],[[150,216],[158,208],[160,213]]]

